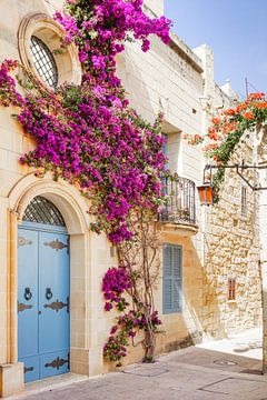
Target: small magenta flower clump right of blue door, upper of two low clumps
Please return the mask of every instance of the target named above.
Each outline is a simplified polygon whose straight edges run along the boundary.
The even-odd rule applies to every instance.
[[[121,294],[131,289],[131,279],[125,267],[109,268],[102,279],[102,292],[106,301],[105,310],[109,311],[117,306],[119,311],[122,311],[122,306],[128,303]]]

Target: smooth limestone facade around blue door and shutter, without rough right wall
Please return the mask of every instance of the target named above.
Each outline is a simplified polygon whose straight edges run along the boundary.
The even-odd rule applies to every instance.
[[[19,59],[18,51],[18,28],[22,18],[29,12],[39,11],[52,14],[55,6],[61,4],[56,0],[42,1],[14,1],[9,4],[0,4],[0,53],[1,59]],[[12,17],[11,17],[12,16]],[[11,20],[12,19],[12,20]],[[176,42],[176,44],[175,44]],[[174,38],[174,46],[178,46],[179,40]],[[181,46],[181,44],[180,44]],[[192,63],[187,62],[188,54],[191,54]],[[198,66],[199,62],[199,66]],[[181,143],[181,132],[201,130],[201,107],[199,93],[201,93],[202,80],[199,70],[200,60],[182,44],[181,54],[164,46],[158,39],[152,39],[151,52],[144,54],[138,43],[127,48],[119,59],[120,76],[129,91],[132,107],[142,113],[150,121],[157,116],[159,110],[166,113],[165,130],[170,134],[170,154],[174,171],[179,170],[181,174],[187,174],[191,179],[200,180],[200,167],[197,168],[199,150],[190,149]],[[79,192],[73,192],[73,188],[66,188],[66,183],[58,182],[53,189],[49,189],[52,183],[49,177],[47,180],[39,180],[32,176],[32,170],[22,167],[19,158],[34,147],[34,142],[23,132],[20,124],[11,117],[18,110],[1,108],[0,124],[0,297],[1,319],[0,319],[0,363],[16,361],[17,351],[17,322],[11,324],[10,318],[14,317],[16,304],[10,304],[10,254],[9,241],[10,223],[8,216],[10,210],[17,216],[17,223],[21,222],[22,214],[20,197],[23,201],[30,201],[33,193],[39,194],[38,188],[43,196],[48,196],[53,201],[66,219],[75,212],[76,208],[68,208],[63,200],[58,200],[63,188],[65,196],[70,192],[73,203],[79,203]],[[178,154],[182,162],[178,162]],[[195,154],[195,156],[194,156]],[[192,167],[192,160],[196,167]],[[201,162],[199,162],[200,164]],[[29,178],[29,180],[28,180]],[[43,184],[39,184],[40,181]],[[37,189],[31,191],[31,187]],[[67,184],[68,187],[68,184]],[[29,190],[29,193],[28,193]],[[16,201],[10,200],[12,193],[17,193]],[[30,194],[31,193],[31,194]],[[23,196],[22,196],[23,194]],[[26,197],[26,198],[24,198]],[[70,202],[71,202],[70,201]],[[23,203],[27,206],[27,203]],[[24,207],[23,206],[23,207]],[[16,207],[19,207],[17,209]],[[72,210],[72,211],[71,211]],[[77,209],[77,212],[81,212]],[[82,218],[87,219],[86,209],[82,210]],[[113,323],[112,313],[103,311],[103,299],[101,293],[101,280],[105,271],[116,266],[116,259],[110,257],[110,246],[105,237],[86,234],[79,231],[71,231],[72,226],[68,227],[71,236],[71,370],[73,372],[97,374],[103,371],[102,347],[109,336],[110,327]],[[179,342],[192,337],[200,331],[198,314],[201,312],[201,268],[195,244],[190,238],[172,234],[171,238],[162,240],[184,246],[185,254],[185,312],[181,314],[166,316],[166,334],[159,339],[158,351],[171,349],[171,346],[179,346]],[[200,239],[199,239],[200,240]],[[12,248],[17,242],[12,242]],[[14,272],[16,272],[16,262]],[[191,271],[198,271],[192,279]],[[12,277],[14,287],[14,298],[17,293],[17,277]],[[197,288],[197,290],[196,290]],[[159,284],[156,294],[156,302],[161,313],[162,310],[162,287]],[[12,310],[11,310],[12,307]],[[16,319],[16,317],[14,317]],[[12,333],[11,333],[11,330]],[[174,344],[175,343],[175,344]],[[14,349],[11,358],[10,349]],[[127,362],[140,359],[140,351],[132,352]]]

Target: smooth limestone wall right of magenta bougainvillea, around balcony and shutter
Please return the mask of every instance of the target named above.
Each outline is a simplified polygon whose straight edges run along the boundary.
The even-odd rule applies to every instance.
[[[168,134],[169,168],[197,183],[201,181],[202,158],[197,148],[182,140],[182,133],[202,131],[202,76],[200,59],[176,36],[166,47],[151,38],[151,50],[144,54],[139,43],[130,43],[119,56],[118,73],[130,104],[149,121],[164,111],[164,132]],[[198,199],[197,199],[198,201]],[[201,209],[197,203],[198,223]],[[158,337],[157,351],[170,351],[201,340],[202,267],[201,234],[184,237],[178,231],[164,233],[162,242],[182,246],[182,312],[161,316],[165,334]],[[156,306],[162,312],[162,282],[156,291]],[[130,353],[127,362],[141,359],[141,349]]]

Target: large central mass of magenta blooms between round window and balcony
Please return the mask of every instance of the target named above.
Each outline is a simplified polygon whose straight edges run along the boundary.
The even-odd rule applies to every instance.
[[[71,91],[72,98],[66,100],[71,109],[60,114],[49,113],[46,101],[26,99],[18,120],[37,147],[21,162],[78,182],[97,208],[92,228],[105,230],[113,243],[129,240],[130,211],[135,207],[157,209],[166,162],[164,139],[134,111],[113,109],[109,94],[101,100],[85,83],[65,90],[67,97]]]

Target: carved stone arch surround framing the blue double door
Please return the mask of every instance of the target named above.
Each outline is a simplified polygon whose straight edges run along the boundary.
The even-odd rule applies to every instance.
[[[9,276],[12,288],[9,316],[9,329],[12,331],[8,344],[10,348],[9,362],[18,361],[18,227],[22,223],[28,204],[38,196],[48,199],[58,208],[70,236],[70,371],[88,374],[88,288],[91,268],[88,203],[75,187],[62,180],[56,182],[51,173],[47,173],[44,178],[37,178],[30,173],[18,181],[9,193]],[[80,368],[81,353],[85,353],[82,368]]]

